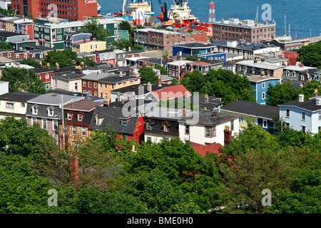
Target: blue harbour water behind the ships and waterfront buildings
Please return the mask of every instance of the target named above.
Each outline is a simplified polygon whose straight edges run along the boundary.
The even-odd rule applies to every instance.
[[[126,9],[128,2],[126,1]],[[148,2],[151,0],[147,0]],[[168,8],[172,1],[168,2]],[[209,4],[212,0],[189,0],[191,14],[194,14],[200,21],[208,22]],[[258,21],[263,21],[267,16],[263,4],[270,5],[271,20],[276,22],[276,35],[288,35],[290,24],[290,36],[292,38],[306,38],[310,36],[321,36],[321,0],[213,0],[215,3],[216,21],[221,19],[238,18],[241,20],[253,19],[257,15]],[[101,4],[102,13],[111,13],[123,9],[123,0],[98,0]],[[154,23],[160,22],[157,15],[161,14],[161,7],[158,0],[152,0],[155,11]],[[286,19],[285,19],[286,18]],[[286,31],[285,31],[286,21]]]

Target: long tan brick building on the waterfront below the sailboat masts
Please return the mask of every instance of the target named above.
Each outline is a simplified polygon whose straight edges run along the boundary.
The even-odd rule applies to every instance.
[[[213,41],[235,41],[263,43],[275,38],[275,22],[255,22],[253,20],[228,19],[213,23]]]

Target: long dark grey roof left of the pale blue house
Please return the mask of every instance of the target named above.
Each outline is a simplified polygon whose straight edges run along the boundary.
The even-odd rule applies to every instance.
[[[253,115],[260,118],[266,118],[272,120],[275,113],[279,113],[280,108],[269,106],[269,105],[260,105],[258,103],[251,103],[243,100],[238,100],[228,105],[225,105],[222,110],[231,111],[233,113],[244,114],[244,115]]]

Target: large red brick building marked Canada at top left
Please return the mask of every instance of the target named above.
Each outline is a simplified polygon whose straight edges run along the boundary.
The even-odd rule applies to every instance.
[[[11,0],[11,9],[17,15],[32,16],[34,18],[56,16],[69,21],[81,21],[84,16],[98,16],[97,0]]]

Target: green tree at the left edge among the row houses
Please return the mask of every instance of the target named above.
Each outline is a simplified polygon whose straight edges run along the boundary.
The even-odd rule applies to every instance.
[[[32,69],[6,67],[2,71],[1,80],[9,81],[9,92],[46,93],[43,81]]]

